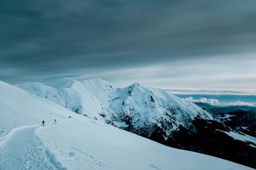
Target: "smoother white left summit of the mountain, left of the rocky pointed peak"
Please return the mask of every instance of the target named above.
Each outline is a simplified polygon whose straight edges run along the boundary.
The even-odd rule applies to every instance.
[[[102,111],[102,104],[108,101],[107,92],[114,91],[107,81],[100,79],[92,81],[67,81],[55,87],[49,87],[37,82],[24,83],[17,85],[17,87],[60,104],[68,108],[68,110],[87,115],[90,118],[100,118],[97,113]]]

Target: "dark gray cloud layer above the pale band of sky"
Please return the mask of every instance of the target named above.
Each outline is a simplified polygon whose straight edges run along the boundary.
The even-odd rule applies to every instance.
[[[20,83],[251,52],[255,8],[255,0],[0,0],[0,78]]]

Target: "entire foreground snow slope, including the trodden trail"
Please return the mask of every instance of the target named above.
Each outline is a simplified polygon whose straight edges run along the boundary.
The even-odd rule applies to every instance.
[[[252,169],[160,145],[2,81],[0,89],[0,131],[8,133],[1,133],[0,169]]]

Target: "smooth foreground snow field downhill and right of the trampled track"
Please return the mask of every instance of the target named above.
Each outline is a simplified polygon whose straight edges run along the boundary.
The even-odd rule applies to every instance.
[[[170,148],[88,118],[72,117],[40,127],[36,134],[67,169],[250,169]]]

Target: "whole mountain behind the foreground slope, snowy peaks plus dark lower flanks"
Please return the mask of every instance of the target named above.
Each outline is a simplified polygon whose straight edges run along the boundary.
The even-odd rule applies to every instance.
[[[101,79],[68,81],[54,87],[35,82],[17,87],[164,145],[256,167],[256,142],[234,139],[230,132],[240,136],[243,132],[212,114],[214,108],[197,106],[165,90],[139,83],[115,88]]]

